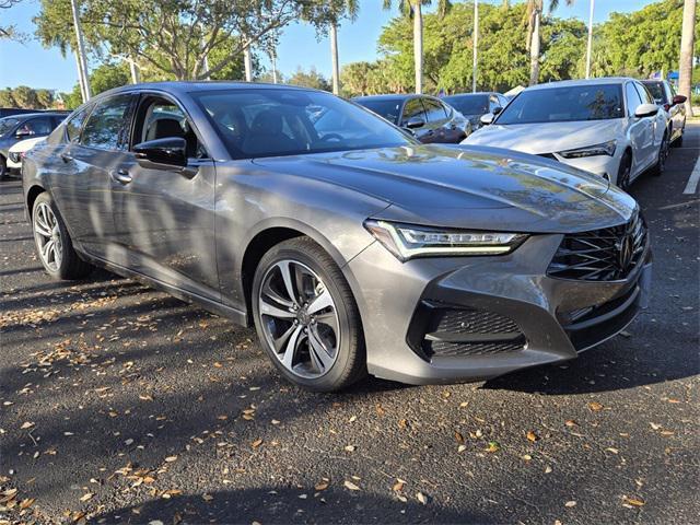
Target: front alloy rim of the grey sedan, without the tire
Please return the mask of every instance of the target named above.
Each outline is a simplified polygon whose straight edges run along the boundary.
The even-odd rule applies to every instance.
[[[258,294],[260,324],[280,363],[294,375],[317,378],[338,358],[340,323],[320,277],[292,259],[275,262]]]

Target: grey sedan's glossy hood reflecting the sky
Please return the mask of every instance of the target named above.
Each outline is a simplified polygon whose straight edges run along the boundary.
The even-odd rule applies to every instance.
[[[411,145],[254,161],[392,206],[375,219],[563,233],[619,224],[635,208],[604,179],[555,161],[485,147]]]

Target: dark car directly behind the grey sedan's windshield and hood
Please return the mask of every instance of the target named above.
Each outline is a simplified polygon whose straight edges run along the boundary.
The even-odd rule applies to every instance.
[[[352,100],[389,122],[408,129],[418,140],[457,144],[471,133],[471,124],[448,104],[428,95],[374,95]]]

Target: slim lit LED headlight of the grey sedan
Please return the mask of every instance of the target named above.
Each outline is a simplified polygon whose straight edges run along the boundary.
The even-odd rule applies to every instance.
[[[399,260],[413,257],[503,255],[513,252],[527,235],[412,226],[386,221],[364,221],[366,228]]]

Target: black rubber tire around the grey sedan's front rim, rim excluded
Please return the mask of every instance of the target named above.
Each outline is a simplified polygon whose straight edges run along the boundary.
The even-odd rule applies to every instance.
[[[290,260],[307,267],[320,278],[324,289],[330,293],[332,299],[334,312],[337,313],[340,342],[336,349],[335,361],[323,375],[317,377],[303,377],[288,370],[282,364],[280,354],[273,349],[264,329],[266,320],[260,315],[259,305],[264,280],[278,264]],[[299,287],[296,285],[296,288]],[[334,392],[346,388],[366,375],[362,322],[352,291],[332,257],[312,238],[301,236],[284,241],[262,256],[255,270],[252,305],[260,345],[280,374],[291,383],[311,390]],[[299,320],[294,320],[294,325],[299,323]]]

